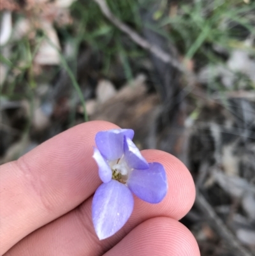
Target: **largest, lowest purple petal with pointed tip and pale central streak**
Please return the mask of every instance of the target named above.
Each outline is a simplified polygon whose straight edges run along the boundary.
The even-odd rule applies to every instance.
[[[92,220],[98,238],[105,239],[121,229],[133,207],[133,195],[127,186],[115,180],[101,184],[92,200]]]

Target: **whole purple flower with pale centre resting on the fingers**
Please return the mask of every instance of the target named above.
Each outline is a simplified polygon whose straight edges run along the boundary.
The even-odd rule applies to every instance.
[[[128,221],[134,207],[133,192],[157,204],[168,185],[161,163],[147,163],[132,139],[134,131],[114,129],[96,134],[93,157],[103,184],[92,201],[92,220],[99,239],[115,234]]]

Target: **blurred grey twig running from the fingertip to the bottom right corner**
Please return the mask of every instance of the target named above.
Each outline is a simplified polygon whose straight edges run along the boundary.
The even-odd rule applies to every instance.
[[[237,237],[233,235],[230,229],[226,227],[224,222],[222,222],[221,218],[217,216],[214,209],[207,202],[205,197],[197,190],[196,193],[196,204],[197,206],[205,213],[206,216],[210,219],[210,221],[214,224],[214,229],[219,233],[226,243],[231,247],[233,252],[237,253],[238,256],[254,256],[253,253],[249,252],[241,243],[237,240]]]

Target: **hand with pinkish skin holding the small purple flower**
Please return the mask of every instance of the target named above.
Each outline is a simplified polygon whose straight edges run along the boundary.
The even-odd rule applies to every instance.
[[[154,149],[142,154],[164,165],[166,197],[159,204],[135,197],[126,225],[99,241],[91,204],[101,181],[92,146],[97,132],[113,128],[119,127],[105,121],[80,124],[1,165],[1,255],[200,255],[193,235],[178,222],[194,203],[191,174],[177,158]]]

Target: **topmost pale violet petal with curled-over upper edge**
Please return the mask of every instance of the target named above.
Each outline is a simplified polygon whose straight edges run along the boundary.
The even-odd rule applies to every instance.
[[[96,146],[107,160],[117,160],[124,153],[124,135],[133,139],[134,131],[131,129],[113,129],[96,134]]]

